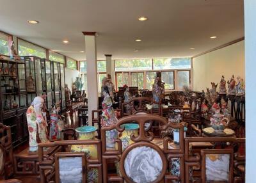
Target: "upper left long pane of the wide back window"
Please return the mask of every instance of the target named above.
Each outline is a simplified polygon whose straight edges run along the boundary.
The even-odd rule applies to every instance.
[[[152,70],[151,59],[115,60],[115,71]]]

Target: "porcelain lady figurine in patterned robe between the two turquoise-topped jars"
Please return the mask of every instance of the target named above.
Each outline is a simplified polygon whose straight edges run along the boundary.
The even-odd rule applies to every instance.
[[[112,107],[113,101],[109,96],[108,86],[104,86],[102,90],[104,100],[102,102],[102,119],[101,126],[108,127],[117,122],[115,111]],[[106,146],[107,148],[115,148],[115,139],[117,138],[117,131],[113,129],[106,131]]]

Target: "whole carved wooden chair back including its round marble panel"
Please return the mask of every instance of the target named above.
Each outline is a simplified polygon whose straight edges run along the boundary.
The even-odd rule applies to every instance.
[[[175,148],[169,148],[172,143],[170,138],[159,139],[162,141],[162,147],[157,144],[154,134],[145,131],[145,123],[150,120],[159,122],[159,129],[161,130],[168,127],[179,129],[180,144]],[[124,146],[124,141],[117,138],[115,140],[116,146],[107,148],[106,132],[107,134],[108,131],[124,132],[123,125],[131,122],[137,123],[139,127],[137,135],[134,133],[130,135],[132,143]],[[103,182],[124,182],[124,180],[126,182],[159,182],[168,180],[184,182],[184,127],[182,125],[168,122],[165,118],[156,115],[131,115],[121,118],[115,125],[102,127],[101,135]],[[136,161],[132,163],[131,159],[135,157]],[[173,175],[167,170],[169,169],[169,163],[175,158],[180,160],[179,175]],[[108,174],[108,165],[111,161],[115,161],[119,170],[116,174]],[[148,175],[147,171],[143,169],[145,164],[148,164],[147,168],[154,168],[155,171]],[[136,171],[138,167],[142,169]]]

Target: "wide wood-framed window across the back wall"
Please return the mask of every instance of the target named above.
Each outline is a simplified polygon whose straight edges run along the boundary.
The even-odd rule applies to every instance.
[[[161,72],[166,90],[181,90],[190,86],[190,69],[191,58],[115,60],[116,90],[124,84],[152,90],[156,72]]]

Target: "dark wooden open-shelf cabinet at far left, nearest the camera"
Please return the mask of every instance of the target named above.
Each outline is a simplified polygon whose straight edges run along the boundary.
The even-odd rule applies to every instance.
[[[28,140],[26,63],[0,58],[0,122],[11,127],[12,145]]]

